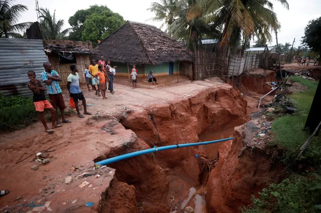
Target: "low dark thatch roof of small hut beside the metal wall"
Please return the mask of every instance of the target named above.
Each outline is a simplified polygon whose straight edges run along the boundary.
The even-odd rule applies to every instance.
[[[91,54],[90,49],[82,47],[82,46],[75,46],[69,44],[44,44],[44,49],[46,53],[76,53],[76,54]]]

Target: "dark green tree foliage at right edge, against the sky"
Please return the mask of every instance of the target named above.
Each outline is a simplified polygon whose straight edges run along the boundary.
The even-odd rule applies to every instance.
[[[309,21],[304,29],[302,44],[307,45],[321,57],[321,17]]]

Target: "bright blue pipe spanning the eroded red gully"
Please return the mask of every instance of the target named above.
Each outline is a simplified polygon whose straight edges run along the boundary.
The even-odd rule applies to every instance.
[[[169,146],[164,146],[164,147],[153,147],[151,149],[136,151],[136,152],[132,152],[132,153],[127,153],[127,154],[124,154],[124,155],[116,156],[116,157],[113,157],[113,158],[109,158],[109,159],[106,159],[106,160],[103,160],[103,161],[99,161],[96,164],[107,165],[107,164],[115,163],[117,161],[121,161],[121,160],[124,160],[124,159],[127,159],[127,158],[133,158],[133,157],[140,156],[140,155],[145,155],[145,154],[148,154],[148,153],[155,153],[155,152],[158,152],[158,151],[171,150],[171,149],[183,148],[183,147],[192,147],[192,146],[199,146],[199,145],[214,144],[214,143],[219,143],[219,142],[222,142],[222,141],[232,140],[232,139],[233,139],[233,137],[229,137],[229,138],[224,138],[224,139],[219,139],[219,140],[211,140],[211,141],[204,141],[204,142],[198,142],[198,143],[169,145]]]

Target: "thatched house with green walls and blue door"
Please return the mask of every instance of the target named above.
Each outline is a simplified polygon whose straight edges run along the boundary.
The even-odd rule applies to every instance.
[[[153,70],[155,76],[177,74],[178,62],[192,62],[193,52],[160,29],[127,21],[93,50],[92,58],[111,60],[117,65],[117,75],[128,76],[132,64],[139,74],[147,76]]]

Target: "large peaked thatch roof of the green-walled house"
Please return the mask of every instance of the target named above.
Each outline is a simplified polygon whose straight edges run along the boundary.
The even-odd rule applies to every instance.
[[[129,63],[160,64],[193,61],[193,52],[160,29],[127,21],[93,50],[105,60]]]

